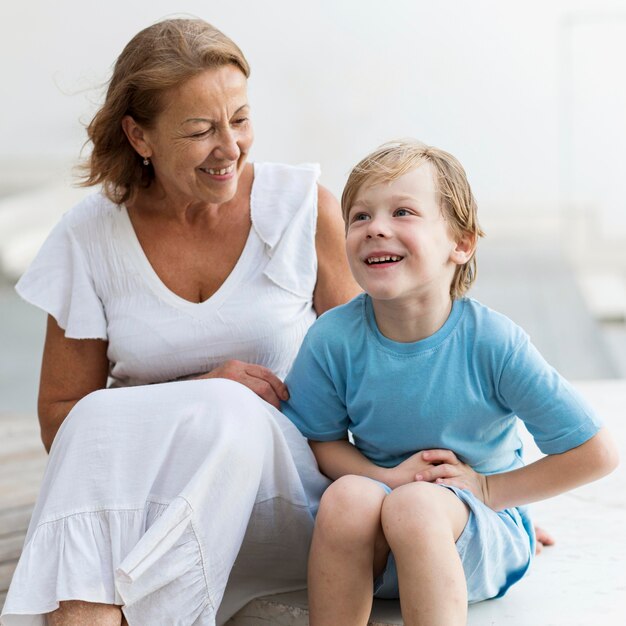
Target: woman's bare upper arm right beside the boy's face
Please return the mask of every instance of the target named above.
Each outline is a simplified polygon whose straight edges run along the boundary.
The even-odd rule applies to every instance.
[[[345,250],[345,228],[339,202],[328,189],[318,186],[317,284],[313,292],[313,306],[318,315],[354,298],[361,288],[357,285]]]

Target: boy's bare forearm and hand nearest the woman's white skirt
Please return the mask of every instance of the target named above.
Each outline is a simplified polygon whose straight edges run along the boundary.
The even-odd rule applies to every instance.
[[[426,450],[413,454],[396,467],[380,467],[372,463],[347,439],[309,440],[309,444],[320,470],[328,478],[337,480],[346,474],[367,476],[392,489],[413,482],[417,474],[434,469],[439,463],[458,462],[457,457],[450,450]]]

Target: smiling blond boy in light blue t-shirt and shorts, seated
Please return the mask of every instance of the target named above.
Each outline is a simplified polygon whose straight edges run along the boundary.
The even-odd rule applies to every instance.
[[[528,336],[464,297],[482,232],[452,155],[383,145],[353,169],[342,210],[365,293],[309,330],[283,406],[335,481],[311,546],[310,623],[366,624],[374,584],[407,625],[465,624],[468,602],[528,569],[524,505],[604,476],[617,452]],[[547,455],[525,467],[516,416]]]

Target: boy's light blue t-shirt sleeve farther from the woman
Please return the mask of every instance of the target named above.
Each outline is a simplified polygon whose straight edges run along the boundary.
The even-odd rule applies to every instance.
[[[601,422],[593,409],[524,336],[503,367],[498,391],[544,454],[591,439]]]

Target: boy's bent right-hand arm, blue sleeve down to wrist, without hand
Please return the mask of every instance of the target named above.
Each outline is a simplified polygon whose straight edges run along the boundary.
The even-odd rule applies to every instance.
[[[501,367],[494,368],[496,397],[524,422],[548,456],[523,468],[480,477],[484,501],[494,510],[574,489],[605,476],[618,463],[615,444],[593,409],[527,335],[513,344]]]

